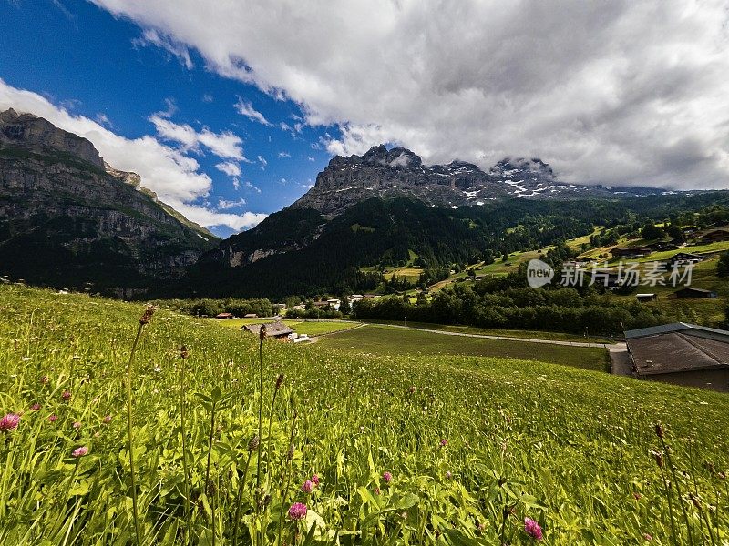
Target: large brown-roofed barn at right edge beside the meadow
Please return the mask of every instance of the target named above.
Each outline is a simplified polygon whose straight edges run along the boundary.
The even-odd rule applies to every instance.
[[[675,322],[625,332],[638,379],[729,392],[729,331]]]

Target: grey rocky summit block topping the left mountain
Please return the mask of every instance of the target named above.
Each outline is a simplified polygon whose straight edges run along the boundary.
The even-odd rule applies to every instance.
[[[94,167],[104,168],[98,150],[86,138],[59,129],[43,117],[18,114],[13,108],[0,112],[0,148],[16,147],[39,154],[70,154]]]

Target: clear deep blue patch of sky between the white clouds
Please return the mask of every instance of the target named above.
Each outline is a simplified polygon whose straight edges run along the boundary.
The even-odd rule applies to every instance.
[[[271,213],[301,197],[331,157],[319,139],[333,127],[297,126],[302,112],[291,100],[218,76],[193,51],[188,63],[145,43],[139,26],[96,5],[0,0],[0,14],[0,78],[7,86],[43,95],[73,115],[103,119],[101,125],[128,138],[156,135],[149,117],[160,111],[171,113],[167,119],[178,125],[239,136],[245,159],[218,157],[204,147],[190,153],[212,179],[210,195],[196,204],[217,209],[222,202],[227,213]],[[270,125],[238,113],[241,100]],[[240,167],[240,176],[215,167],[225,162]],[[233,231],[212,229],[221,236]]]

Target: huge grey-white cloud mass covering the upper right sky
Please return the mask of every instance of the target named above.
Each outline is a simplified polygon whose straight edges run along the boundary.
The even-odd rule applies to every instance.
[[[93,1],[344,125],[331,152],[392,142],[431,162],[542,157],[570,181],[729,185],[725,0]]]

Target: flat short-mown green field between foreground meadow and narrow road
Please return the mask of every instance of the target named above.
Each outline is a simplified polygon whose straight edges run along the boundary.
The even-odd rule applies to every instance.
[[[374,324],[331,336],[320,341],[320,344],[362,354],[394,357],[406,355],[502,357],[553,362],[599,371],[605,371],[608,365],[607,349],[447,336]]]

